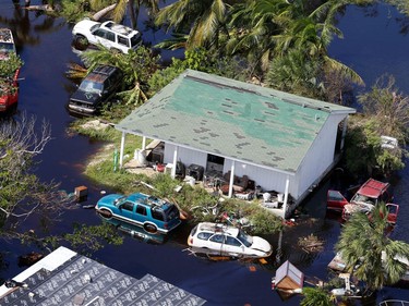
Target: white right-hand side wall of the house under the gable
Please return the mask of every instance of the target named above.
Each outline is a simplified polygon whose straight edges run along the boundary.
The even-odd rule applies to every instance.
[[[320,175],[322,175],[334,162],[337,128],[338,124],[345,118],[345,114],[330,115],[320,134],[316,136],[312,147],[306,152],[297,171],[297,197],[301,196],[311,185],[315,184]]]

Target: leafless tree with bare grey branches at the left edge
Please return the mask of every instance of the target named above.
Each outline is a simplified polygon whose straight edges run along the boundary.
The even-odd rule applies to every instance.
[[[36,211],[56,219],[72,203],[59,184],[44,183],[34,173],[34,158],[51,140],[49,123],[37,124],[34,115],[0,122],[0,218],[15,228]]]

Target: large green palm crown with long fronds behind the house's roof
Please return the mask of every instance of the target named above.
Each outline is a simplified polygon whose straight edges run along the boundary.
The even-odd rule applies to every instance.
[[[256,54],[266,71],[273,58],[285,57],[290,50],[303,53],[304,63],[317,61],[323,71],[338,71],[357,84],[362,78],[351,69],[328,57],[327,47],[341,32],[334,26],[336,14],[354,0],[330,0],[318,7],[302,0],[252,0],[236,5],[231,26],[241,35],[230,35],[229,50]],[[243,22],[244,21],[244,22]],[[246,48],[246,50],[245,50]]]

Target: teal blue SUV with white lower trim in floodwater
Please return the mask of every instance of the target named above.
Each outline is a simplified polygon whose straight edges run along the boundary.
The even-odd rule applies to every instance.
[[[166,234],[181,223],[175,204],[142,193],[104,196],[95,209],[103,218],[141,227],[147,233]]]

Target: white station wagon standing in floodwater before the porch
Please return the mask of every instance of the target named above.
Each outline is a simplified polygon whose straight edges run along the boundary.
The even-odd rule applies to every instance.
[[[221,223],[201,222],[188,237],[193,252],[232,258],[264,258],[273,253],[264,238],[251,236],[242,230]]]

